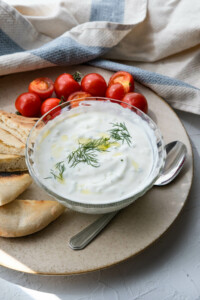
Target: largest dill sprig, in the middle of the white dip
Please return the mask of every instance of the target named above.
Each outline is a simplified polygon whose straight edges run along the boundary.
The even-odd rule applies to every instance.
[[[99,167],[96,152],[107,151],[109,148],[109,138],[99,138],[96,140],[89,140],[87,143],[79,143],[78,148],[68,155],[68,163],[70,167],[75,167],[77,164],[83,162],[92,167]]]

